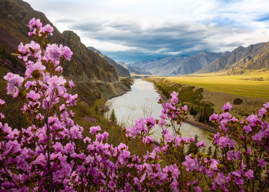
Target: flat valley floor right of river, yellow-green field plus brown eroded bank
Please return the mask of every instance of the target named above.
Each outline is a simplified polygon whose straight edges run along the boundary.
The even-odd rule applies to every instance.
[[[196,95],[194,100],[183,98],[182,103],[196,106],[198,110],[206,107],[208,112],[212,113],[213,110],[218,113],[224,103],[230,102],[233,105],[231,114],[238,118],[246,118],[250,113],[256,114],[269,99],[268,69],[248,70],[242,75],[221,76],[220,73],[206,73],[179,77],[144,77],[147,81],[155,81],[156,84],[162,83],[162,86],[166,87],[169,92],[174,89],[179,91],[179,95],[190,94],[190,92],[186,92],[186,89],[183,89],[186,87],[193,86],[193,93],[197,89],[202,89],[200,99],[198,99],[200,95]],[[249,78],[263,78],[264,81],[242,80]],[[236,98],[243,100],[240,105],[233,104]],[[197,102],[199,105],[197,105]]]

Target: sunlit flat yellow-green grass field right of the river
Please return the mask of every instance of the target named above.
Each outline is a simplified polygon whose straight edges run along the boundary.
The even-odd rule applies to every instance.
[[[246,70],[243,75],[219,75],[221,75],[221,73],[207,73],[178,77],[156,76],[156,78],[166,78],[172,82],[202,87],[211,91],[269,99],[269,69]],[[263,77],[265,81],[241,80],[245,78],[260,77]]]

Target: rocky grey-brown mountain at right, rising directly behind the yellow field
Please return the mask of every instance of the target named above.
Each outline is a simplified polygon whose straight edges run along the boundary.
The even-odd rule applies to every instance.
[[[269,43],[269,42],[268,42]],[[210,73],[214,71],[227,71],[240,67],[242,69],[263,69],[268,66],[268,43],[257,43],[248,47],[239,46],[232,52],[209,63],[200,73]],[[248,67],[247,67],[247,66]]]

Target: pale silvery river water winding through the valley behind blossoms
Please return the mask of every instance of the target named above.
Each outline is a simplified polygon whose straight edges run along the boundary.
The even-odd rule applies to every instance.
[[[107,101],[110,111],[114,109],[118,122],[124,122],[126,125],[134,125],[134,122],[142,117],[145,119],[147,115],[153,116],[155,119],[160,119],[161,104],[157,103],[159,93],[154,89],[154,85],[142,79],[135,79],[134,84],[131,86],[132,91],[128,91],[126,94],[115,97]],[[157,141],[161,138],[161,127],[158,125],[153,129],[153,135],[151,137]],[[173,130],[169,130],[173,133]],[[198,140],[204,140],[208,146],[212,146],[209,139],[207,139],[210,131],[183,123],[180,132],[182,137],[193,137],[198,135]]]

